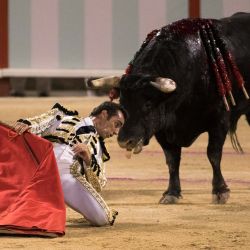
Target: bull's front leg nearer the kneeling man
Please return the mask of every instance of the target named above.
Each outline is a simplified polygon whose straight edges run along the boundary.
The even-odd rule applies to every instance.
[[[163,150],[169,169],[169,185],[168,189],[163,193],[159,203],[173,204],[177,203],[181,198],[181,185],[179,178],[181,147],[167,145]]]

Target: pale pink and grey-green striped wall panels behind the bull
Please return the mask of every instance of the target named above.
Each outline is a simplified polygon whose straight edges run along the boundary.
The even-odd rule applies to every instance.
[[[202,17],[250,12],[201,0]],[[188,0],[9,0],[9,67],[123,70],[147,33],[186,18]]]

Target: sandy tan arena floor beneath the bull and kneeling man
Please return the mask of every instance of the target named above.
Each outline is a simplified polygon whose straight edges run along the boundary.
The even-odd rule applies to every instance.
[[[55,102],[86,116],[104,97],[0,98],[0,120],[13,123],[50,109]],[[183,199],[159,205],[168,171],[160,147],[152,139],[141,154],[125,157],[116,139],[107,141],[111,161],[103,197],[119,211],[112,227],[91,227],[67,209],[66,235],[61,238],[0,236],[0,249],[250,249],[250,128],[239,122],[238,137],[245,154],[234,152],[229,138],[222,170],[231,188],[226,205],[211,204],[212,170],[206,157],[207,135],[183,150]]]

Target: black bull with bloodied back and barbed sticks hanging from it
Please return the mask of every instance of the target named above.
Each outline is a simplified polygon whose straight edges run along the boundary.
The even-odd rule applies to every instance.
[[[172,79],[176,89],[164,93],[152,86],[159,77]],[[154,135],[165,154],[170,178],[160,203],[181,197],[182,147],[204,132],[213,168],[213,201],[225,203],[230,190],[220,164],[226,135],[229,132],[239,148],[237,121],[245,114],[250,124],[250,14],[184,19],[151,32],[116,90],[129,114],[119,145],[137,153]]]

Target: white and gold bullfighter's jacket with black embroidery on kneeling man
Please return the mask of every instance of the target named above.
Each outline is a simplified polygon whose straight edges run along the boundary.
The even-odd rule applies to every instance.
[[[90,166],[86,166],[81,159],[74,159],[72,165],[97,192],[105,186],[107,179],[104,162],[109,160],[110,156],[90,117],[80,118],[77,111],[70,111],[57,103],[42,115],[18,121],[28,124],[31,133],[51,142],[67,144],[70,147],[76,143],[87,144],[91,152]]]

